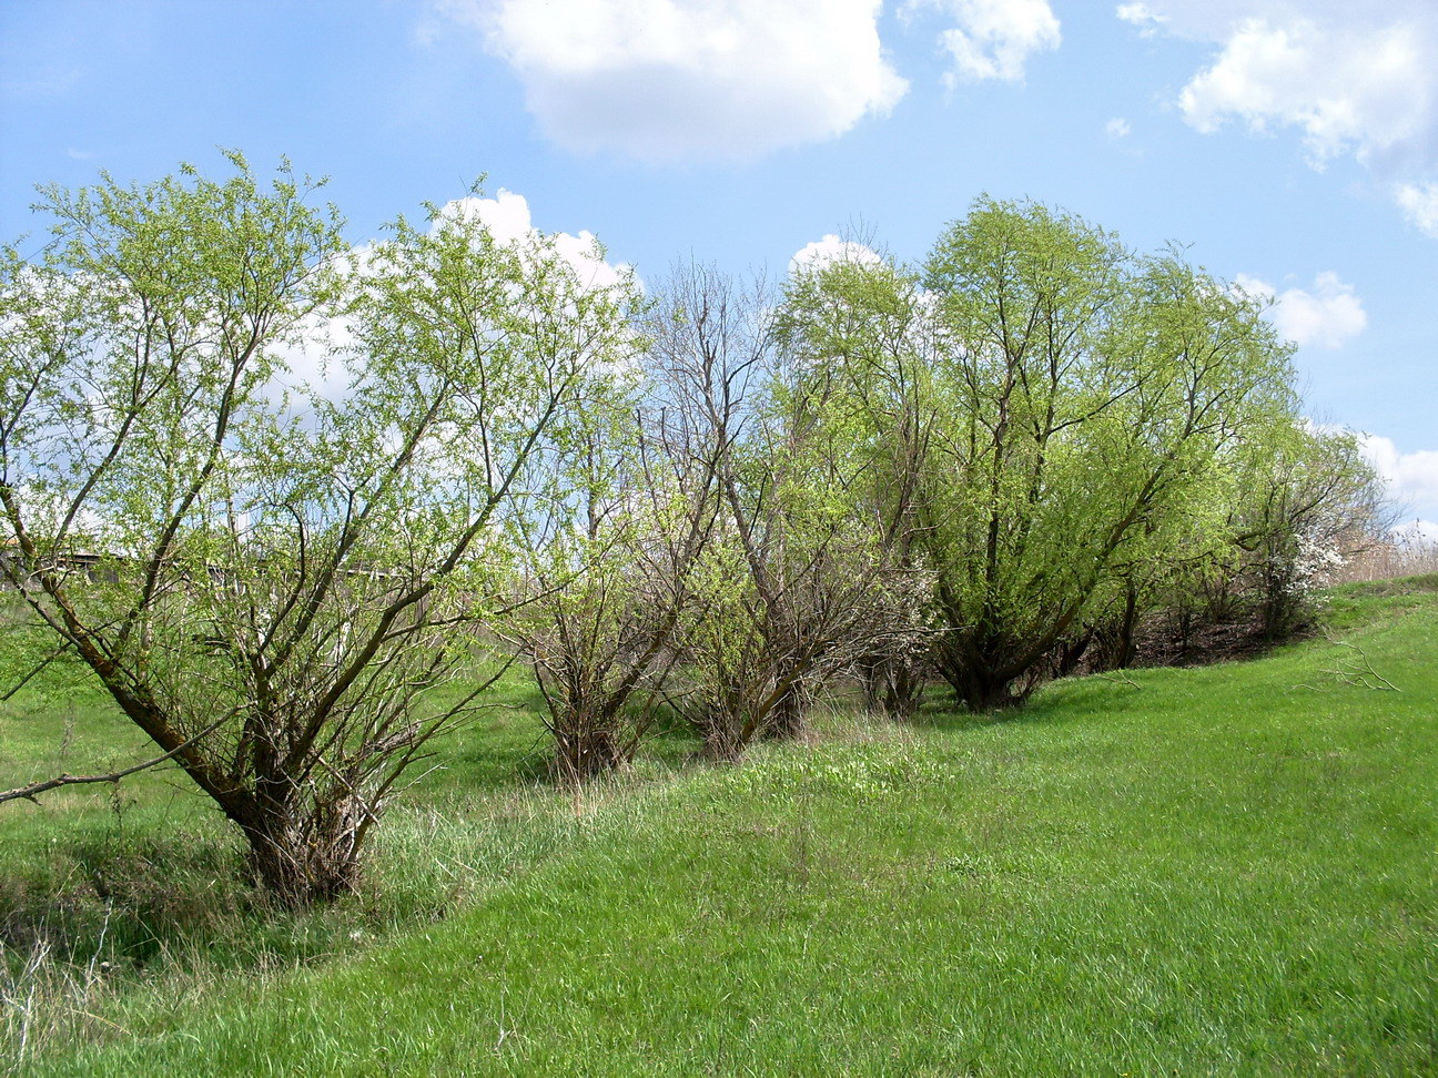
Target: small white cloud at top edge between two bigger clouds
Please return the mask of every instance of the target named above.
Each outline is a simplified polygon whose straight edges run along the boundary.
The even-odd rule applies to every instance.
[[[1028,57],[1057,49],[1063,40],[1048,0],[912,0],[907,11],[939,9],[953,26],[939,45],[953,68],[945,76],[959,82],[1018,82]]]

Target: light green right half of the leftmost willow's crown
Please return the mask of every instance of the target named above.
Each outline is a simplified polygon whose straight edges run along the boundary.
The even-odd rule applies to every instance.
[[[371,561],[418,556],[413,573],[473,599],[512,584],[531,517],[585,482],[569,461],[611,423],[637,289],[591,286],[552,237],[500,243],[464,207],[357,252],[352,388],[313,407],[344,484],[384,490]]]

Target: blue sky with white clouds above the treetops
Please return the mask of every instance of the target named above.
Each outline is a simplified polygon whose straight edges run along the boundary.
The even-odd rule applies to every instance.
[[[0,236],[219,145],[355,241],[483,172],[641,276],[917,259],[984,191],[1176,240],[1438,522],[1435,0],[0,0]]]

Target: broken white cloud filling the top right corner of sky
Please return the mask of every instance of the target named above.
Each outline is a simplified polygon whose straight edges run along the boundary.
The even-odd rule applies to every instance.
[[[1215,46],[1178,95],[1195,129],[1294,131],[1311,165],[1353,157],[1438,234],[1435,0],[1146,0],[1117,14]]]

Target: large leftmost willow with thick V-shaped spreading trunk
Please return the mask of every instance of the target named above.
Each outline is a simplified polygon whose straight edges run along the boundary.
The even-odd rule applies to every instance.
[[[6,572],[239,828],[256,880],[305,903],[352,887],[401,778],[473,703],[430,690],[515,599],[518,503],[630,346],[631,286],[498,241],[467,203],[345,254],[311,185],[232,162],[47,191],[55,243],[7,252]],[[351,342],[338,400],[276,388],[316,319]]]

